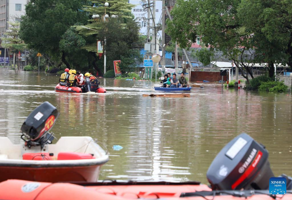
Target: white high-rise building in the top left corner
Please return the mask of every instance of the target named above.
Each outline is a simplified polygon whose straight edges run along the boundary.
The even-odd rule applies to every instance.
[[[0,34],[9,27],[7,22],[18,22],[25,15],[25,5],[28,0],[0,0]]]

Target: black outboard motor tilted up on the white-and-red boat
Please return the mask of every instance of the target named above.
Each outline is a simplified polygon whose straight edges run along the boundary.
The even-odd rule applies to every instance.
[[[47,101],[34,109],[21,126],[21,138],[25,141],[25,146],[29,148],[41,146],[42,149],[45,144],[51,144],[54,137],[48,131],[53,127],[58,116],[58,110]]]

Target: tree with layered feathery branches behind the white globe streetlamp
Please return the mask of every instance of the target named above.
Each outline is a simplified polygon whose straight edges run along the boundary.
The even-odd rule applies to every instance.
[[[97,63],[94,68],[100,70],[103,66],[103,56],[101,59],[97,57],[97,40],[104,43],[106,38],[105,50],[107,53],[107,70],[113,69],[113,61],[121,60],[121,71],[126,72],[135,65],[135,61],[140,59],[140,53],[132,49],[132,44],[139,40],[139,24],[134,20],[131,14],[131,8],[134,6],[129,4],[127,0],[107,1],[109,7],[105,8],[104,1],[94,1],[91,6],[84,6],[84,10],[90,15],[100,15],[99,19],[90,19],[85,25],[76,26],[79,34],[86,37],[86,45],[82,47],[91,55],[96,57]],[[103,21],[102,15],[109,16],[118,15],[118,18],[110,17],[108,22]],[[98,67],[100,66],[100,67]]]

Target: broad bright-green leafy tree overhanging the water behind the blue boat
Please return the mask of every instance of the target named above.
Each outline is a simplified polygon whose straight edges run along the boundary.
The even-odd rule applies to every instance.
[[[173,21],[168,21],[167,32],[181,47],[190,47],[199,38],[210,45],[210,51],[222,52],[223,56],[235,63],[248,83],[248,75],[253,78],[251,68],[255,62],[268,62],[272,66],[269,67],[269,74],[273,76],[273,63],[281,61],[283,54],[277,48],[272,49],[273,41],[267,40],[261,32],[247,29],[246,24],[252,26],[258,22],[253,15],[261,7],[254,2],[253,8],[241,8],[240,0],[178,0],[178,5],[171,12]],[[260,2],[265,4],[268,1]],[[246,9],[250,12],[246,12]],[[206,61],[204,53],[201,55]]]

